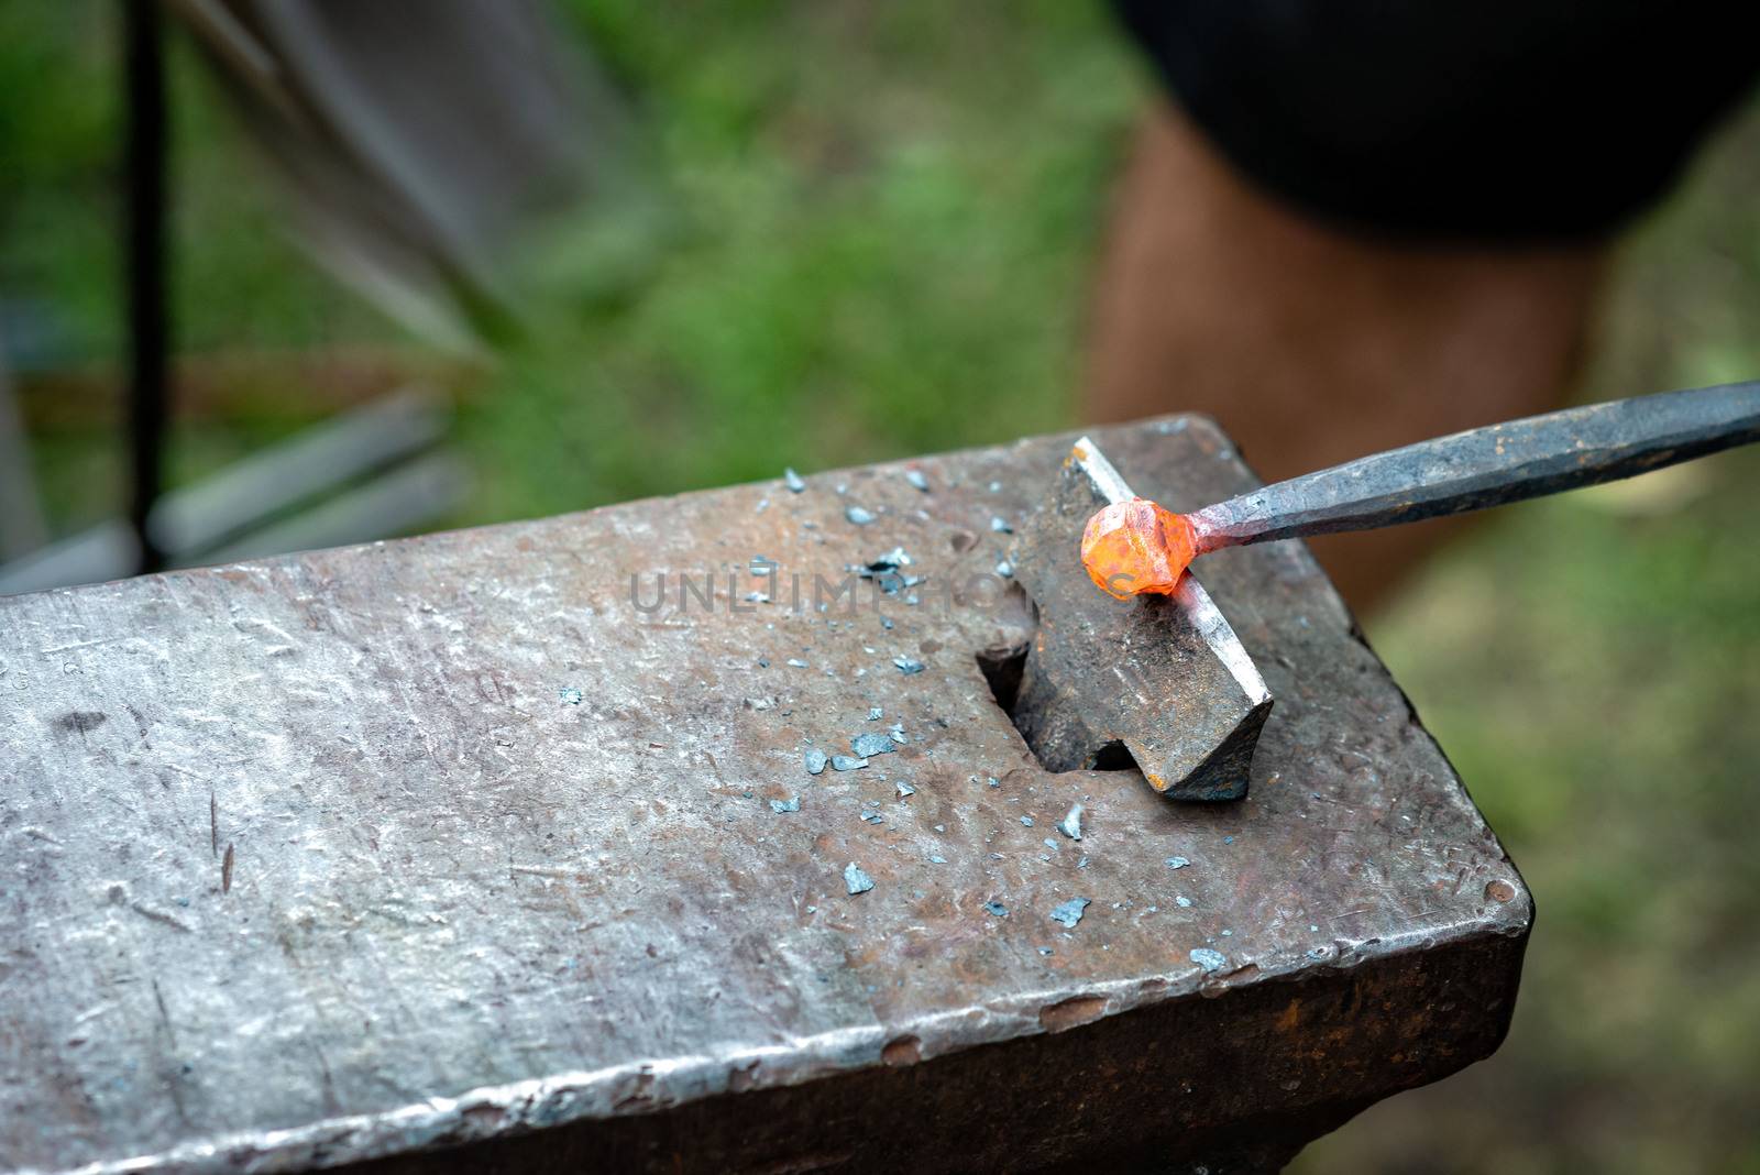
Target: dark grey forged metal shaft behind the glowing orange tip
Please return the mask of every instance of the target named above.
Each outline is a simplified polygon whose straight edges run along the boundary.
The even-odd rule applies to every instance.
[[[1306,473],[1192,515],[1199,551],[1375,529],[1635,477],[1760,440],[1760,382],[1491,424]]]

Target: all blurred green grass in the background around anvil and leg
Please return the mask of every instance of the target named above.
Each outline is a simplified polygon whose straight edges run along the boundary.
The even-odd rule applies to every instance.
[[[426,352],[317,273],[180,46],[174,480],[407,373],[458,390],[456,522],[998,442],[1075,415],[1107,190],[1149,93],[1091,4],[570,0],[648,209]],[[0,338],[58,531],[121,501],[113,7],[0,5]],[[1760,109],[1623,246],[1588,398],[1760,375]],[[1505,1048],[1302,1171],[1760,1171],[1760,459],[1501,512],[1369,635],[1535,888]]]

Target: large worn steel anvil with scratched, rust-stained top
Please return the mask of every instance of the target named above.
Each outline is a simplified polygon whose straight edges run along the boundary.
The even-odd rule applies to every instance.
[[[1528,892],[1301,545],[1202,568],[1278,697],[1246,800],[993,702],[936,580],[1072,436],[0,600],[0,1168],[1265,1168],[1489,1054]],[[917,605],[744,602],[899,545]]]

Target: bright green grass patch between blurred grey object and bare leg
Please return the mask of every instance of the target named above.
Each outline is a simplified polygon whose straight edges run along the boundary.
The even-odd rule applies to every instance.
[[[1137,86],[1096,11],[699,5],[679,37],[648,5],[577,7],[641,95],[665,204],[621,288],[542,274],[505,403],[461,431],[496,471],[480,517],[1070,419]]]

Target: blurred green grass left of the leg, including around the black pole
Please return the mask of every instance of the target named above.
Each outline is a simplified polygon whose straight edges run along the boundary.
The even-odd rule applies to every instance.
[[[0,18],[0,79],[46,88],[0,127],[21,179],[0,193],[0,273],[99,362],[118,347],[104,11]],[[1070,420],[1081,292],[1142,86],[1098,7],[625,0],[567,16],[635,95],[642,202],[528,243],[519,338],[461,406],[482,489],[456,522]],[[183,348],[398,341],[280,232],[187,46],[172,67]],[[51,445],[109,445],[111,420],[95,424]],[[185,433],[180,478],[236,449],[201,440],[229,427]],[[55,496],[63,526],[109,508],[111,482],[81,484]]]

